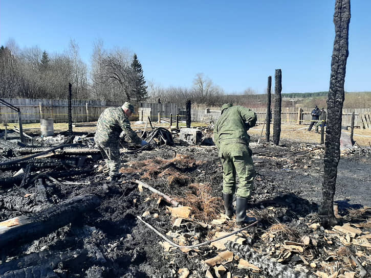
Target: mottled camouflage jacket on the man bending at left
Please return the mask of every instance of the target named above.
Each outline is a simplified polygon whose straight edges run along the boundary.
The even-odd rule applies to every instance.
[[[94,141],[119,144],[121,131],[124,132],[125,138],[129,138],[133,143],[141,143],[141,138],[130,127],[124,110],[121,107],[108,107],[99,116]]]

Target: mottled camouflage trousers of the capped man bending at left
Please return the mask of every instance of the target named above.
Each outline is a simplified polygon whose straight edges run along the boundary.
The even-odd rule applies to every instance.
[[[110,176],[117,176],[120,169],[120,149],[118,148],[118,142],[95,142],[98,146],[104,161],[108,168],[110,168]]]

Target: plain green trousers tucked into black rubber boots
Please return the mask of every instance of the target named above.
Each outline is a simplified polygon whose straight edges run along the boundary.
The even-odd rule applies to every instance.
[[[223,166],[223,192],[248,198],[254,188],[255,169],[250,148],[243,143],[221,144],[219,157]],[[236,187],[236,177],[238,186]]]

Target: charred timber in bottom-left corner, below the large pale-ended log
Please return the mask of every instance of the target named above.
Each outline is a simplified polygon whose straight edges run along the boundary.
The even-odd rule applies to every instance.
[[[59,263],[63,265],[83,263],[88,257],[88,251],[85,249],[76,249],[73,251],[60,252],[55,250],[43,250],[37,253],[31,253],[16,260],[0,264],[0,275],[10,275],[12,272],[21,273],[18,270],[31,269],[33,273],[37,271],[47,271],[48,269],[58,268]],[[47,272],[46,272],[47,273]],[[0,276],[3,277],[3,276]],[[5,277],[5,276],[4,276]],[[11,277],[11,276],[9,276]],[[16,276],[18,277],[18,276]],[[22,276],[19,276],[22,277]],[[35,276],[46,277],[46,276]],[[49,276],[48,276],[49,277]],[[56,276],[59,277],[59,276]]]

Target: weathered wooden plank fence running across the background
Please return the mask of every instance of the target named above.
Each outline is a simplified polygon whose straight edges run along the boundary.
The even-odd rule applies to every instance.
[[[40,119],[51,118],[54,123],[68,122],[68,100],[46,100],[46,99],[4,99],[12,105],[19,107],[22,115],[23,123],[38,123]],[[99,101],[99,100],[72,100],[72,121],[79,122],[94,122],[97,121],[99,115],[106,107],[121,106],[121,102],[115,101]],[[199,110],[191,109],[191,120],[193,122],[204,122],[207,124],[214,123],[220,116],[220,110],[213,107]],[[141,121],[147,121],[148,117],[151,121],[158,121],[158,118],[170,118],[180,115],[180,120],[185,120],[185,109],[174,103],[137,103],[135,114]],[[266,108],[253,109],[257,113],[257,123],[264,123],[266,119]],[[311,108],[293,108],[283,107],[281,112],[282,124],[309,124],[311,117]],[[352,112],[355,112],[355,125],[361,128],[371,128],[371,108],[363,109],[343,109],[342,125],[351,125]],[[272,113],[273,118],[273,113]],[[173,118],[174,120],[175,118]],[[7,106],[0,104],[0,120],[1,122],[15,123],[17,122],[17,112],[11,110]],[[274,121],[274,119],[272,119]],[[363,120],[363,121],[362,121]],[[369,126],[369,127],[368,127]]]

